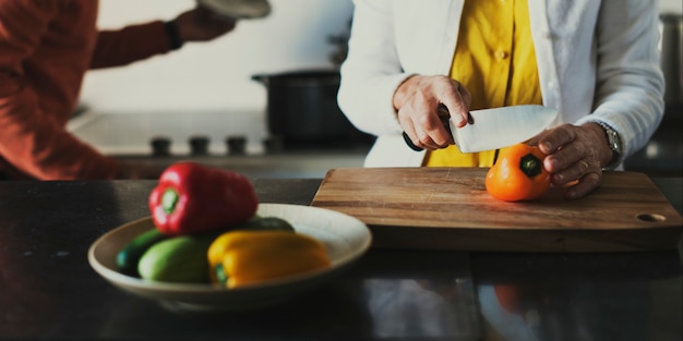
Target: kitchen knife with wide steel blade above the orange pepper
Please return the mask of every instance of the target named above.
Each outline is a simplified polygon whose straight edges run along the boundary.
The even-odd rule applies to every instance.
[[[448,117],[442,115],[446,129],[463,153],[493,150],[525,142],[544,129],[558,117],[558,111],[537,105],[511,106],[469,112],[474,123],[457,127]],[[404,139],[415,150],[422,150],[412,144],[404,132]]]

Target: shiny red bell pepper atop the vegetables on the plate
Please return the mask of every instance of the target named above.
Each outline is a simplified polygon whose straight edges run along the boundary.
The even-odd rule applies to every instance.
[[[149,210],[164,234],[207,232],[247,221],[259,200],[244,175],[195,162],[177,162],[159,176]]]

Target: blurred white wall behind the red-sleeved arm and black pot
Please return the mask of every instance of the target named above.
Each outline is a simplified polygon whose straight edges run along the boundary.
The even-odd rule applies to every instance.
[[[209,42],[125,68],[86,75],[82,102],[98,111],[263,111],[265,87],[252,74],[333,68],[329,35],[347,31],[351,0],[271,0],[266,19],[241,21]],[[193,0],[101,0],[99,26],[170,20]]]

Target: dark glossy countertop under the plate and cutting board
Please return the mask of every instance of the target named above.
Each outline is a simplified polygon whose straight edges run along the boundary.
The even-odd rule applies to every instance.
[[[654,181],[681,212],[682,179]],[[254,185],[262,203],[308,205],[320,182]],[[109,284],[87,261],[103,233],[148,216],[155,184],[0,182],[0,340],[683,338],[681,246],[626,254],[371,249],[336,280],[281,305],[170,312]]]

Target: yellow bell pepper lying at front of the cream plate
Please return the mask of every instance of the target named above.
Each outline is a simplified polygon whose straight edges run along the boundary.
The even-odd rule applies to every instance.
[[[212,282],[235,288],[329,266],[317,240],[288,231],[230,231],[208,247]]]

